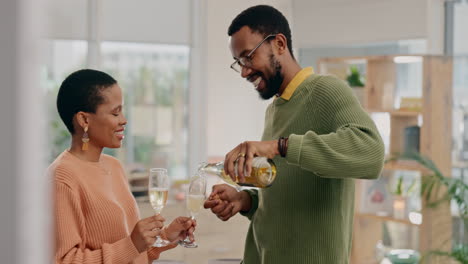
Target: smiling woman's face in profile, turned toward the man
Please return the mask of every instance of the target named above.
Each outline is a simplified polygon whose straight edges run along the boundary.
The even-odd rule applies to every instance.
[[[127,119],[123,115],[122,89],[114,84],[101,91],[104,102],[88,116],[89,144],[101,148],[120,148]]]

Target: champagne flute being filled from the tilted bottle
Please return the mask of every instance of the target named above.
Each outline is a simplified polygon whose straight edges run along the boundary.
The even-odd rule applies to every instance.
[[[190,216],[192,219],[195,219],[195,216],[203,207],[203,203],[205,202],[205,192],[206,177],[204,177],[201,174],[195,174],[193,177],[190,178],[190,185],[185,200],[187,210],[190,212]],[[179,241],[179,245],[182,245],[186,248],[198,247],[197,243],[190,241],[188,235],[185,237],[184,240]]]

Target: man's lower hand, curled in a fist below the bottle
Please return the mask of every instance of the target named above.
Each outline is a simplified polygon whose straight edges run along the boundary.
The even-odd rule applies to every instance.
[[[247,192],[238,192],[227,184],[220,184],[213,186],[213,191],[203,206],[210,208],[219,219],[227,221],[239,211],[249,211],[251,198]]]

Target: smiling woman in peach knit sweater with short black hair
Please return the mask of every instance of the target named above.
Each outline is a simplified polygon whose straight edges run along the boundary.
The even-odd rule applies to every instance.
[[[122,90],[108,74],[80,70],[60,86],[57,108],[71,147],[48,171],[54,177],[56,263],[151,263],[175,247],[154,248],[157,235],[193,240],[195,222],[179,217],[163,227],[160,215],[139,220],[122,165],[102,154],[119,148],[127,124]]]

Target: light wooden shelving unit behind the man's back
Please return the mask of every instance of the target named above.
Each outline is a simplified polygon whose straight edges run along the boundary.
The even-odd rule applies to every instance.
[[[401,64],[402,62],[406,64]],[[323,58],[318,62],[318,72],[333,74],[346,80],[351,65],[359,66],[365,75],[365,87],[360,88],[364,89],[364,95],[360,97],[362,107],[369,114],[385,113],[388,116],[389,125],[386,127],[388,138],[384,140],[388,142],[387,155],[404,152],[404,129],[419,126],[419,151],[434,161],[444,175],[450,175],[452,166],[451,58],[431,55]],[[411,84],[405,83],[405,80],[410,78],[415,80],[413,83],[419,83],[420,87],[412,87]],[[402,87],[407,89],[404,90]],[[411,94],[408,92],[408,87],[417,91]],[[408,93],[410,96],[407,95]],[[414,94],[421,98],[421,111],[400,110],[398,106],[401,97],[414,97]],[[421,175],[419,184],[424,182],[424,175],[430,173],[414,161],[387,162],[384,171],[389,172],[390,175],[396,171],[419,172]],[[422,254],[435,249],[444,251],[451,249],[452,224],[449,203],[432,209],[426,207],[424,199],[421,198],[421,210],[415,212],[422,218],[422,220],[419,218],[420,222],[412,221],[408,215],[403,218],[394,217],[391,213],[382,216],[377,213],[364,212],[362,208],[362,197],[368,193],[363,188],[368,185],[369,181],[356,181],[352,264],[377,263],[375,247],[377,242],[383,239],[384,223],[416,230],[418,245],[413,249]],[[448,263],[446,259],[438,257],[431,257],[428,261],[431,264]]]

